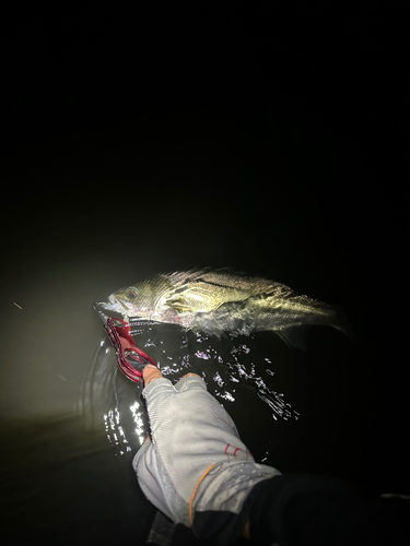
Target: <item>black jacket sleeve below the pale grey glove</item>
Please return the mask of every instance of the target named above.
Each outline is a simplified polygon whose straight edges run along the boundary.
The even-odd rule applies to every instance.
[[[261,482],[249,491],[241,513],[197,514],[194,531],[214,546],[234,544],[246,521],[250,545],[258,546],[410,544],[409,500],[370,496],[339,479],[308,473]]]

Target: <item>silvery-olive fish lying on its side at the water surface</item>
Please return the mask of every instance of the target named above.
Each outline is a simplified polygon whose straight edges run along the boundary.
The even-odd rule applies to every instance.
[[[289,346],[304,348],[301,327],[328,325],[349,335],[341,309],[289,286],[229,269],[174,271],[118,289],[95,304],[125,320],[179,324],[221,337],[271,331]]]

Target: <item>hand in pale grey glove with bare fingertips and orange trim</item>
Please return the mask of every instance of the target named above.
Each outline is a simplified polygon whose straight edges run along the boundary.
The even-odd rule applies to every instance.
[[[280,472],[255,463],[232,418],[199,376],[185,376],[173,385],[149,365],[143,377],[151,440],[132,465],[147,498],[198,536],[212,535],[230,520],[237,526],[239,513],[242,530],[236,532],[243,533],[250,490]]]

